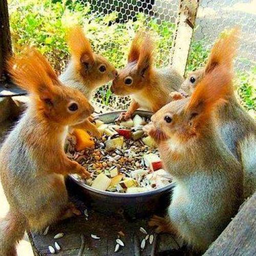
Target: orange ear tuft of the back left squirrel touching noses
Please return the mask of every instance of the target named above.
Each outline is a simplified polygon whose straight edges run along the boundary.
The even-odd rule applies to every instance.
[[[81,27],[75,26],[68,32],[68,45],[71,55],[78,63],[83,63],[86,68],[94,62],[94,54],[88,38],[84,35]]]

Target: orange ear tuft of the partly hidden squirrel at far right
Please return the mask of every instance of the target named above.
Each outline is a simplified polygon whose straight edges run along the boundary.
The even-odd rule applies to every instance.
[[[214,70],[218,65],[232,67],[232,61],[236,56],[240,30],[238,27],[230,31],[224,31],[210,52],[205,66],[205,74]]]

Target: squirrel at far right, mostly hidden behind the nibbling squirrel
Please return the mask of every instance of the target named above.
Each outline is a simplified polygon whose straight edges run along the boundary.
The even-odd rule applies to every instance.
[[[181,89],[191,94],[199,82],[220,65],[232,70],[239,34],[238,28],[222,33],[211,50],[205,68],[192,72]],[[243,165],[244,196],[247,198],[256,190],[256,121],[242,108],[232,89],[226,103],[217,112],[216,122],[226,146]]]

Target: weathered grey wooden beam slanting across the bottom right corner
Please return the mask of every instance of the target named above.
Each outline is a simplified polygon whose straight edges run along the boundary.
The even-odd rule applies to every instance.
[[[242,206],[204,256],[256,255],[256,192]]]

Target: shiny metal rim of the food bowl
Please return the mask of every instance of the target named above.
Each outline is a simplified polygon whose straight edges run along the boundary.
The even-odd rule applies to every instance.
[[[99,119],[101,116],[106,116],[109,114],[120,114],[122,112],[124,112],[125,110],[117,110],[117,111],[111,111],[111,112],[106,112],[106,113],[102,113],[102,114],[98,114],[97,116],[94,117],[94,120]],[[153,113],[149,112],[149,111],[144,111],[144,110],[137,110],[134,112],[134,115],[136,114],[143,114],[143,115],[150,115],[152,116]],[[103,190],[99,190],[96,188],[93,188],[89,185],[84,184],[83,182],[81,182],[79,179],[77,179],[75,177],[74,174],[70,174],[69,177],[78,185],[82,186],[83,188],[90,190],[93,193],[97,193],[100,195],[104,195],[104,196],[110,196],[110,197],[123,197],[123,198],[134,198],[134,197],[146,197],[146,196],[153,196],[155,194],[160,194],[164,191],[168,191],[171,188],[173,188],[175,186],[175,182],[173,181],[172,183],[170,183],[167,186],[163,186],[163,187],[159,187],[153,190],[148,190],[148,191],[143,191],[143,192],[138,192],[138,193],[115,193],[115,192],[111,192],[111,191],[103,191]]]

